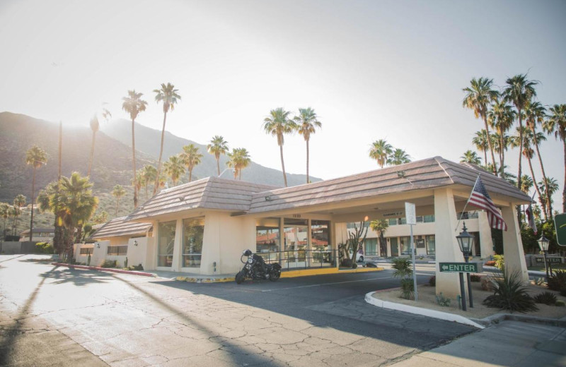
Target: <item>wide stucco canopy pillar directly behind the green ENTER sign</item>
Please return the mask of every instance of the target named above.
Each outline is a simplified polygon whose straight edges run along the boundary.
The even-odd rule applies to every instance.
[[[456,236],[456,207],[451,188],[434,190],[434,236],[437,251],[437,294],[455,299],[460,294],[458,273],[440,272],[439,263],[462,263],[464,258]]]

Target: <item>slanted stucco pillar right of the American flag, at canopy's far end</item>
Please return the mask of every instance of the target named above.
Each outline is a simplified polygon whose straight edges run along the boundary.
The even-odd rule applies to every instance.
[[[529,272],[526,270],[525,253],[523,241],[521,240],[521,229],[517,222],[517,211],[515,205],[501,208],[501,215],[507,224],[507,231],[503,231],[503,253],[505,259],[505,270],[512,274],[519,273],[523,282],[529,282]]]

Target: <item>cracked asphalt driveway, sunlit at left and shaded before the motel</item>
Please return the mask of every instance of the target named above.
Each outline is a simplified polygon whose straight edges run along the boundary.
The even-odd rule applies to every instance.
[[[474,331],[365,303],[391,271],[238,286],[37,258],[0,255],[0,366],[386,366]]]

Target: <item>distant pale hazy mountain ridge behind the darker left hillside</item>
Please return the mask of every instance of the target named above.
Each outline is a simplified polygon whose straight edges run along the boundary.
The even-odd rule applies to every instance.
[[[116,119],[110,124],[105,124],[101,127],[101,130],[111,138],[115,138],[121,143],[128,145],[131,149],[132,147],[132,121],[125,119]],[[148,128],[146,126],[136,123],[135,126],[135,136],[136,136],[136,150],[144,152],[150,157],[154,157],[158,160],[159,157],[159,145],[161,143],[161,130],[155,130],[153,128]],[[211,137],[212,138],[212,137]],[[183,152],[183,145],[194,144],[199,148],[200,153],[203,155],[202,162],[192,171],[193,179],[195,175],[198,178],[207,176],[216,176],[218,171],[216,169],[216,159],[214,155],[207,152],[207,146],[196,143],[192,140],[187,140],[174,136],[168,131],[165,132],[165,143],[163,144],[163,162],[168,160],[171,155],[176,155]],[[244,147],[245,148],[245,147]],[[220,157],[220,170],[226,168],[226,161],[228,158],[226,155]],[[222,175],[223,178],[229,179],[232,176],[231,172],[226,172]],[[282,172],[277,169],[263,167],[260,164],[251,162],[250,166],[242,171],[243,181],[265,183],[267,185],[283,186],[283,176]],[[187,174],[185,174],[184,179],[186,179]],[[310,177],[311,181],[320,181],[316,177]],[[287,181],[289,186],[296,186],[305,183],[306,176],[304,174],[289,174],[287,173]]]

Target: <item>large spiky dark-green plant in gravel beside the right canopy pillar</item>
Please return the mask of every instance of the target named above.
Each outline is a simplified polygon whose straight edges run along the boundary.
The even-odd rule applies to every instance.
[[[529,296],[521,284],[519,273],[503,272],[502,278],[492,279],[494,294],[488,296],[483,304],[487,307],[502,310],[529,312],[537,311],[534,299]]]

